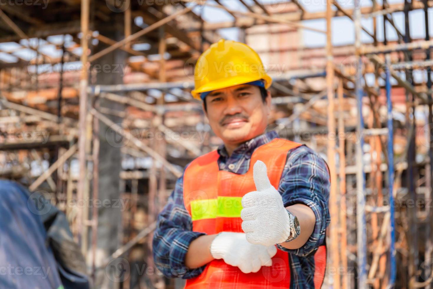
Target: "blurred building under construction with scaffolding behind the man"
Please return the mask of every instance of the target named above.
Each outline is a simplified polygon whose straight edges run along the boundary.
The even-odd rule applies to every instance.
[[[273,78],[268,129],[330,167],[323,288],[430,288],[432,3],[304,2],[0,3],[0,177],[65,211],[95,288],[181,288],[132,264],[154,266],[176,179],[222,143],[190,91],[233,29]],[[130,270],[114,278],[110,262]]]

